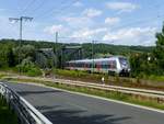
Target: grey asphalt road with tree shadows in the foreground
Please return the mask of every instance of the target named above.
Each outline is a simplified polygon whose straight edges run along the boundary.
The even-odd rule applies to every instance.
[[[7,83],[54,124],[164,124],[164,114],[48,88]]]

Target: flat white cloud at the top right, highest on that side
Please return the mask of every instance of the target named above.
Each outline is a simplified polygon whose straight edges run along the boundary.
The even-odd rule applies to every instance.
[[[138,8],[137,4],[130,2],[107,2],[106,7],[112,10],[118,10],[120,12],[131,12]]]

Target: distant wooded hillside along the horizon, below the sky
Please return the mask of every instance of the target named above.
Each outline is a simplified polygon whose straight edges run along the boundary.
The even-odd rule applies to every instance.
[[[22,45],[33,45],[35,48],[56,48],[56,44],[54,42],[44,42],[44,41],[22,41]],[[0,46],[16,47],[19,45],[19,41],[15,40],[0,40]],[[81,44],[57,44],[58,52],[63,46],[75,46]],[[84,43],[81,45],[83,49],[83,58],[92,57],[92,44]],[[152,46],[124,46],[124,45],[110,45],[110,44],[94,44],[94,55],[125,55],[129,56],[134,53],[150,53],[152,52]]]

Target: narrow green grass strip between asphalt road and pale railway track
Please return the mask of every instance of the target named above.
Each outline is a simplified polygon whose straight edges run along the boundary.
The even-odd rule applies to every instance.
[[[51,82],[51,81],[43,81],[43,80],[36,80],[36,79],[12,79],[9,78],[11,81],[21,81],[21,82],[35,82],[35,83],[43,83],[49,87],[54,88],[59,88],[59,89],[65,89],[69,91],[75,91],[75,92],[82,92],[86,94],[93,94],[97,97],[103,97],[107,99],[114,99],[114,100],[119,100],[128,103],[133,103],[133,104],[139,104],[143,106],[150,106],[154,109],[160,109],[164,110],[164,101],[157,102],[156,99],[150,99],[145,97],[139,97],[139,95],[133,95],[133,94],[127,94],[127,93],[121,93],[121,92],[116,92],[116,91],[105,91],[105,90],[99,90],[99,89],[93,89],[93,88],[86,88],[86,87],[75,87],[75,86],[70,86],[70,84],[62,84],[59,82]]]

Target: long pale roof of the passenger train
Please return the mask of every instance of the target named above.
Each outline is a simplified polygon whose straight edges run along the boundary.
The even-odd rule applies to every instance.
[[[108,58],[96,58],[96,59],[80,59],[80,60],[70,60],[68,63],[91,63],[91,61],[105,61],[105,60],[114,60],[114,59],[117,59],[117,58],[126,58],[125,56],[112,56],[112,57],[108,57]]]

